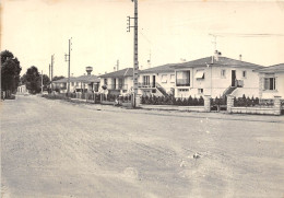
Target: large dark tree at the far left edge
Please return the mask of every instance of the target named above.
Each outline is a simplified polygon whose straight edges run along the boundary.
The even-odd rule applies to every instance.
[[[20,83],[20,72],[22,70],[20,61],[9,50],[1,51],[0,56],[2,91],[15,92]]]

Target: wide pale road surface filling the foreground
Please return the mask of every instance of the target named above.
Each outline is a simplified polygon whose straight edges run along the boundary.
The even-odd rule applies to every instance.
[[[2,197],[284,196],[282,118],[0,105]]]

